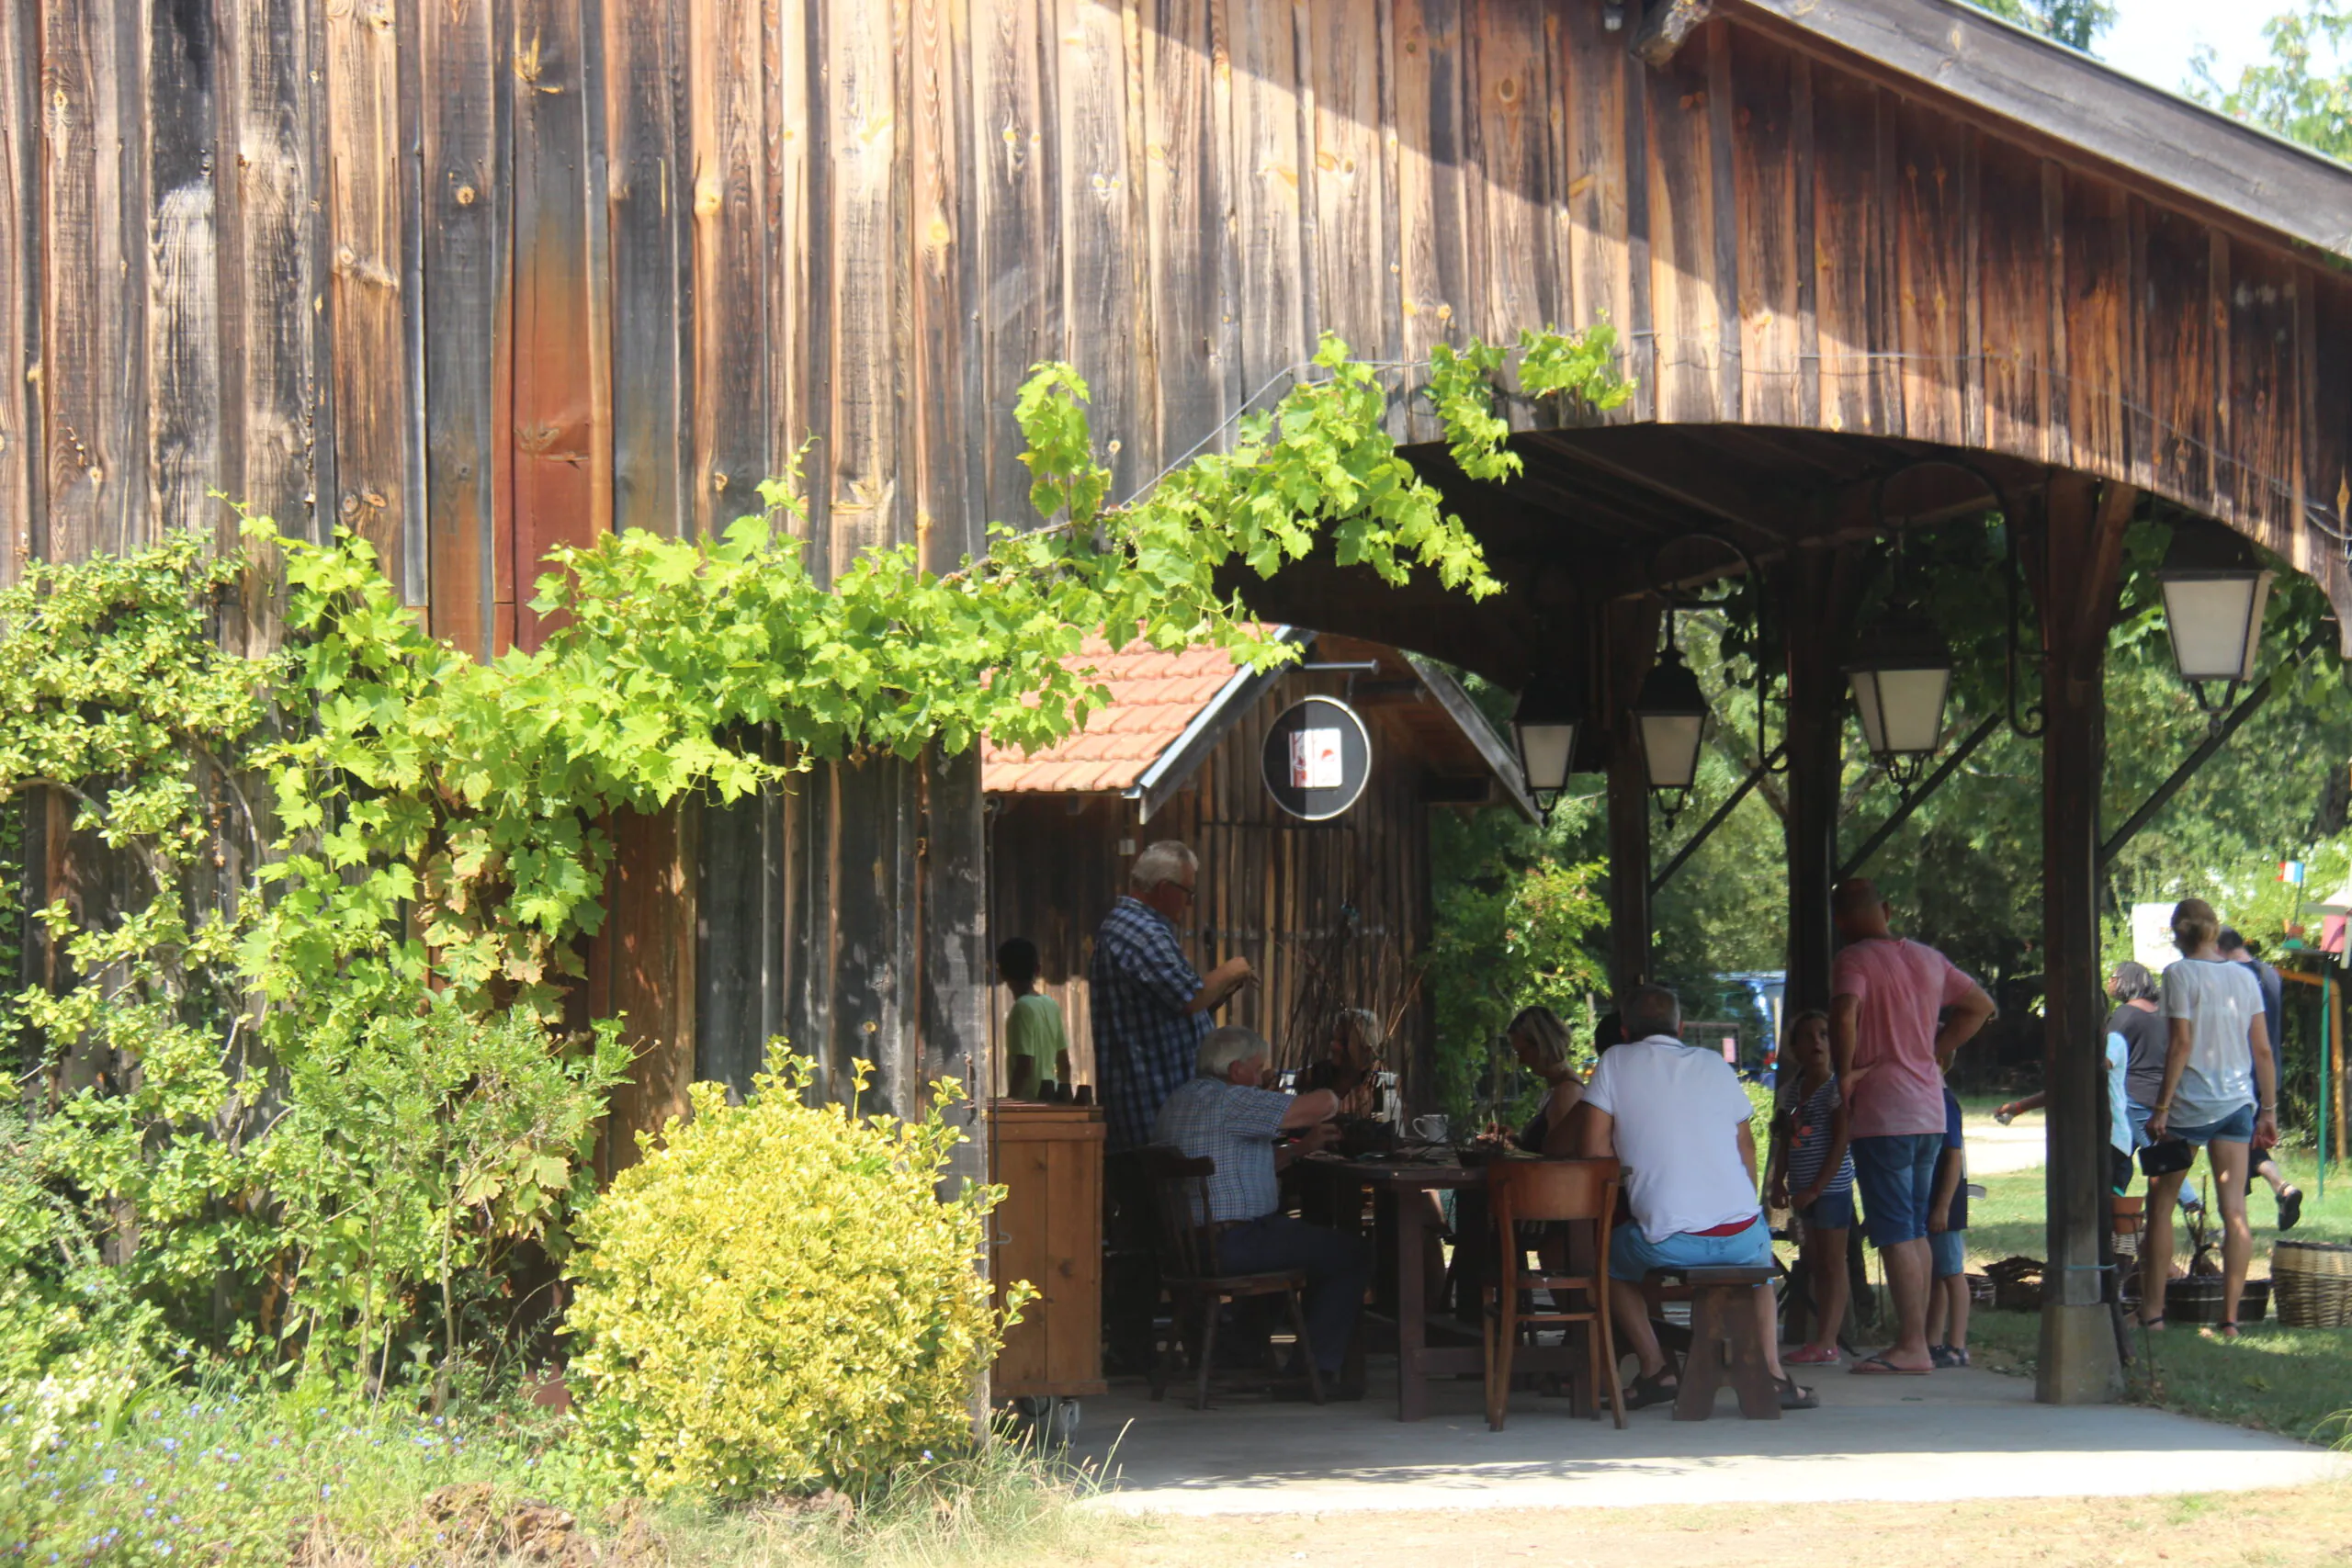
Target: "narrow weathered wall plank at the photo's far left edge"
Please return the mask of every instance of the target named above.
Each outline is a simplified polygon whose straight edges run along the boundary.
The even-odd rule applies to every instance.
[[[40,552],[40,16],[0,14],[0,588]]]

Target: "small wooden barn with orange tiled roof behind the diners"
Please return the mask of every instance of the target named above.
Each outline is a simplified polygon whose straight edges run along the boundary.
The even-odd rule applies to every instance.
[[[1025,936],[1040,990],[1070,1027],[1075,1081],[1094,1084],[1087,964],[1094,929],[1152,839],[1200,856],[1181,922],[1202,973],[1232,954],[1261,983],[1218,1011],[1298,1065],[1338,1009],[1374,1016],[1383,1063],[1406,1093],[1430,1063],[1416,983],[1430,940],[1430,813],[1505,806],[1534,818],[1508,743],[1451,675],[1425,658],[1284,628],[1301,663],[1254,672],[1216,649],[1084,654],[1110,691],[1087,729],[1042,752],[985,748],[988,931]],[[1265,788],[1268,729],[1301,698],[1331,696],[1371,738],[1371,776],[1338,816],[1305,820]],[[990,1009],[990,1046],[1004,999]]]

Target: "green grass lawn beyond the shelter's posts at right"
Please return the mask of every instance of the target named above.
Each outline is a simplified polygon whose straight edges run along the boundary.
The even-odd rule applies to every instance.
[[[2352,1173],[2331,1168],[2328,1194],[2319,1199],[2312,1154],[2286,1152],[2286,1178],[2303,1187],[2303,1222],[2296,1237],[2352,1241]],[[2204,1168],[2197,1171],[2199,1187]],[[1980,1178],[1985,1197],[1969,1208],[1969,1262],[2046,1255],[2042,1171]],[[2270,1190],[2246,1206],[2253,1220],[2253,1272],[2270,1272],[2277,1241]],[[2180,1227],[2176,1227],[2178,1234]],[[2185,1244],[2185,1241],[2183,1241]],[[1987,1366],[2032,1371],[2042,1319],[2030,1312],[1978,1312],[1969,1338]],[[2145,1345],[2145,1349],[2140,1349]],[[2140,1363],[2133,1396],[2169,1410],[2206,1415],[2241,1427],[2265,1427],[2307,1441],[2343,1441],[2352,1413],[2352,1328],[2249,1326],[2234,1345],[2206,1340],[2187,1326],[2157,1335],[2133,1335]]]

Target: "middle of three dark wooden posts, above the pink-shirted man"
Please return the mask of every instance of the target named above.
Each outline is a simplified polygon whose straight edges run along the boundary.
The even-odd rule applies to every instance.
[[[1837,879],[1837,792],[1844,785],[1846,682],[1839,559],[1799,552],[1785,569],[1788,628],[1788,999],[1780,1016],[1830,1006],[1830,886]]]

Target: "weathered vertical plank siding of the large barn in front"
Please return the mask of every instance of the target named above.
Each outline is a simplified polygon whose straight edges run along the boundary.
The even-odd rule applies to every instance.
[[[814,559],[957,557],[1023,512],[1035,360],[1129,487],[1322,331],[1606,317],[1621,421],[2074,465],[2345,602],[2338,259],[1717,12],[1649,68],[1599,0],[12,0],[0,578],[221,489],[489,654],[550,545],[699,536],[800,451]],[[978,837],[967,762],[633,835],[600,973],[703,1070],[781,1027],[906,1103],[978,1039]]]

